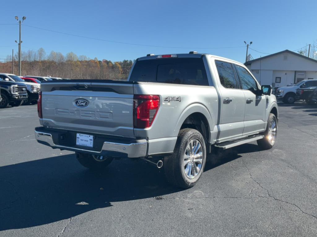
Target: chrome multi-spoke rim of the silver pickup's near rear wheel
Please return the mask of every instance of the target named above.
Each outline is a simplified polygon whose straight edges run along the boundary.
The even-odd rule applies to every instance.
[[[191,140],[185,150],[183,159],[184,173],[189,179],[194,179],[203,165],[204,151],[197,139]]]

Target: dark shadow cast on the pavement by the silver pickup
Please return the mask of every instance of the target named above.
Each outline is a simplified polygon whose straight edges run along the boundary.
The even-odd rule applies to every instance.
[[[245,144],[207,161],[205,172],[257,151]],[[214,158],[213,157],[213,158]],[[194,187],[195,188],[195,187]],[[112,202],[155,198],[182,191],[166,183],[163,171],[144,161],[114,160],[102,173],[81,167],[75,155],[61,155],[0,167],[0,231],[49,224]],[[107,211],[107,209],[105,209]]]

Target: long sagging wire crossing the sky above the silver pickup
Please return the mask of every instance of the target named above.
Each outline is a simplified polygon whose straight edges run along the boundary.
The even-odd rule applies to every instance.
[[[231,48],[243,48],[244,47],[244,46],[236,46],[236,47],[171,47],[171,46],[158,46],[158,45],[143,45],[143,44],[134,44],[134,43],[128,43],[128,42],[120,42],[120,41],[113,41],[113,40],[98,39],[98,38],[87,37],[87,36],[76,35],[76,34],[70,34],[70,33],[44,29],[44,28],[40,28],[40,27],[35,27],[35,26],[29,26],[29,25],[23,25],[23,26],[32,27],[32,28],[36,28],[36,29],[40,29],[40,30],[46,30],[46,31],[55,32],[55,33],[60,33],[60,34],[71,35],[71,36],[75,36],[75,37],[81,37],[81,38],[90,39],[90,40],[100,40],[100,41],[106,41],[106,42],[111,42],[111,43],[126,44],[126,45],[136,45],[136,46],[146,46],[146,47],[173,48],[173,49],[231,49]]]

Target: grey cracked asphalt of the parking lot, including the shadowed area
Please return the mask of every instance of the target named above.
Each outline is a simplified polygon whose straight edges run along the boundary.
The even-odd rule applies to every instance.
[[[0,236],[317,235],[317,106],[281,104],[273,149],[211,155],[187,190],[143,161],[91,173],[36,126],[36,105],[0,110]]]

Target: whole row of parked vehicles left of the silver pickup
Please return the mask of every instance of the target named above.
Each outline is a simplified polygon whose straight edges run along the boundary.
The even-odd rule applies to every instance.
[[[0,73],[0,108],[8,105],[36,104],[41,90],[41,82],[61,80],[51,76],[16,76]]]

